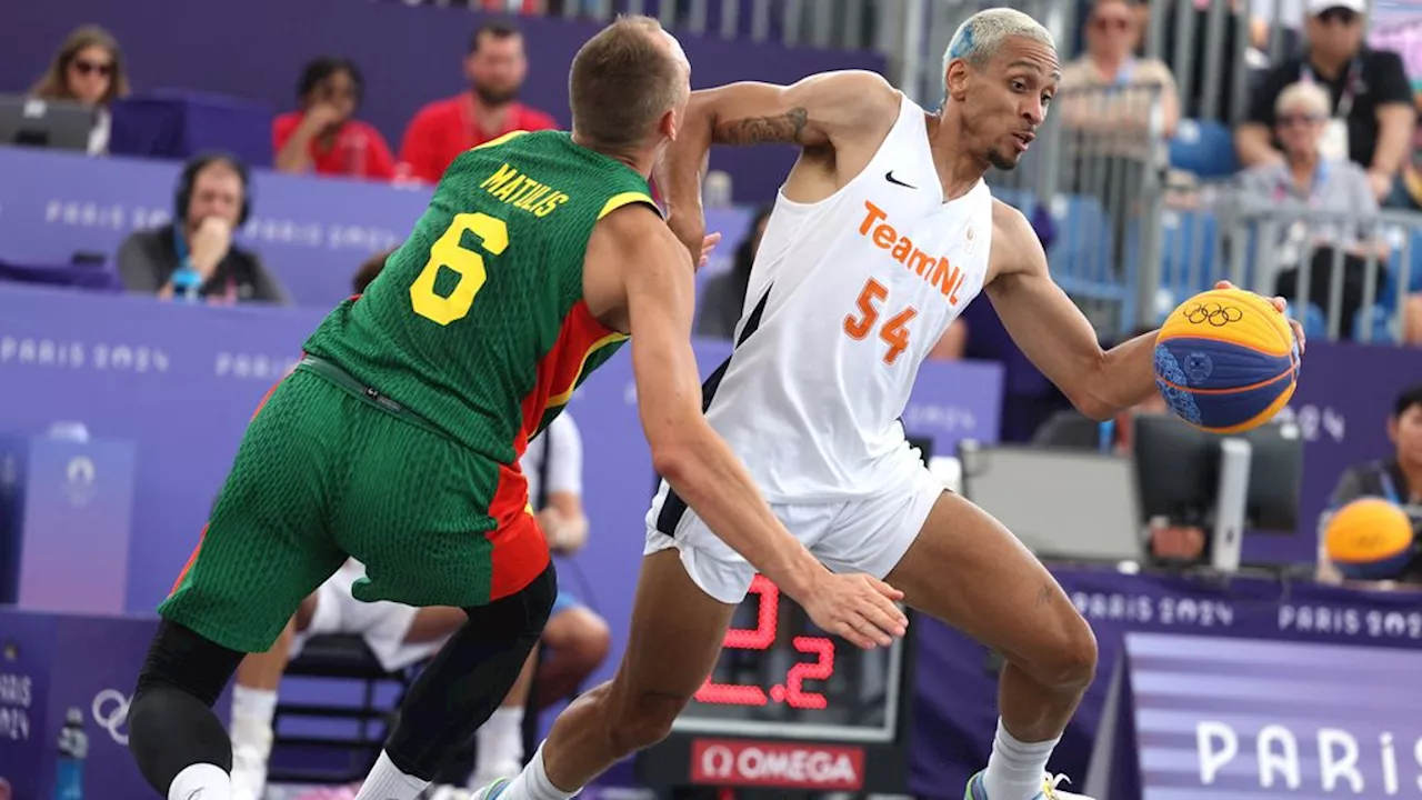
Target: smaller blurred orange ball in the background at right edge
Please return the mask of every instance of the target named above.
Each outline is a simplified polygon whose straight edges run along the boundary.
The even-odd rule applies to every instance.
[[[1355,581],[1396,578],[1412,559],[1412,521],[1376,497],[1354,500],[1328,520],[1324,549],[1338,571]]]

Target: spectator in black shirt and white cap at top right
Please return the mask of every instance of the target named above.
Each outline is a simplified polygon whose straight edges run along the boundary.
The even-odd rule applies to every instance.
[[[1234,132],[1244,167],[1284,162],[1273,137],[1278,95],[1297,81],[1318,83],[1332,101],[1320,144],[1324,157],[1362,167],[1379,204],[1405,204],[1399,175],[1416,122],[1412,85],[1396,53],[1364,44],[1367,10],[1367,0],[1308,0],[1307,51],[1270,70]]]

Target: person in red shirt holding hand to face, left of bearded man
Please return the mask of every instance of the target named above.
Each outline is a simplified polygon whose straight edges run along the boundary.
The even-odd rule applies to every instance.
[[[365,94],[360,68],[346,58],[317,58],[297,87],[300,111],[272,122],[272,149],[282,172],[309,172],[390,181],[395,157],[385,137],[354,118]]]

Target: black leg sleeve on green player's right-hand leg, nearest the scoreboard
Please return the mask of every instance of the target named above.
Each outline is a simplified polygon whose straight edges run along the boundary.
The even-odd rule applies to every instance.
[[[385,753],[404,773],[434,780],[513,688],[557,598],[550,564],[523,591],[466,608],[469,621],[411,686]]]

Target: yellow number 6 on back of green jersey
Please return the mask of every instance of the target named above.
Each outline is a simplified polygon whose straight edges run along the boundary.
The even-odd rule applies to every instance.
[[[474,296],[483,288],[488,272],[483,256],[464,246],[465,232],[479,238],[489,255],[499,255],[509,246],[509,226],[488,214],[456,214],[449,228],[429,248],[429,260],[419,270],[419,278],[410,285],[410,302],[415,313],[439,325],[464,319],[474,305]],[[459,276],[449,296],[435,292],[439,268],[448,268]]]

